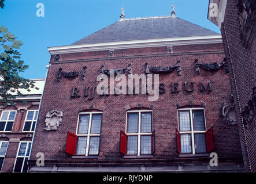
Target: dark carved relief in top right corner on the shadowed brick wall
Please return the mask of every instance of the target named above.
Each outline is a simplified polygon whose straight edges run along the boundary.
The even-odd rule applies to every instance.
[[[247,47],[256,19],[256,1],[239,0],[237,7],[240,41],[243,47]]]

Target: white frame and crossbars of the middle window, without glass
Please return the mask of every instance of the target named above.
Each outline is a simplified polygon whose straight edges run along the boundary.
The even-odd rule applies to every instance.
[[[139,113],[138,117],[138,132],[137,133],[128,133],[128,113]],[[141,122],[141,117],[142,117],[142,113],[151,113],[151,132],[141,132],[141,128],[142,128],[142,122]],[[128,137],[129,136],[137,136],[138,137],[138,142],[137,142],[137,154],[135,154],[135,156],[140,156],[140,155],[152,155],[152,153],[150,152],[150,154],[142,154],[141,153],[141,137],[142,136],[151,136],[153,133],[153,110],[127,110],[126,112],[126,117],[125,117],[125,133],[127,135],[127,141],[128,141]],[[128,144],[127,144],[128,146]],[[152,143],[151,143],[152,146]],[[128,150],[128,149],[127,149]],[[151,148],[152,150],[152,148]],[[133,154],[127,154],[128,156],[132,156]]]

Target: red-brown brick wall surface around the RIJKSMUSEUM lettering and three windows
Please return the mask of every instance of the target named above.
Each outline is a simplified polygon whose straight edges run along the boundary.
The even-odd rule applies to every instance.
[[[213,51],[209,53],[208,51]],[[179,53],[182,53],[179,55]],[[128,57],[134,56],[134,57]],[[101,162],[106,160],[118,160],[124,163],[127,160],[139,162],[136,159],[125,159],[120,154],[120,131],[125,131],[126,110],[153,109],[153,129],[155,129],[155,153],[153,159],[147,162],[153,163],[159,160],[184,160],[176,151],[177,104],[205,106],[206,128],[213,127],[214,141],[218,157],[220,159],[242,159],[240,140],[237,126],[229,126],[223,120],[221,108],[224,102],[229,102],[231,97],[231,83],[229,74],[224,69],[216,72],[208,72],[201,69],[201,75],[196,75],[194,60],[202,63],[221,62],[225,57],[222,44],[185,45],[174,46],[173,53],[167,54],[166,47],[120,49],[114,52],[114,57],[109,57],[109,51],[83,52],[62,54],[58,62],[54,62],[51,56],[46,86],[42,97],[38,124],[36,126],[34,143],[31,152],[31,164],[35,164],[36,154],[43,152],[46,164],[55,162],[60,165],[64,162],[72,164],[87,164],[90,160]],[[86,59],[90,58],[90,61]],[[124,68],[128,63],[132,64],[132,74],[144,74],[144,64],[150,66],[171,66],[180,60],[182,75],[176,71],[171,74],[159,75],[159,83],[164,83],[166,92],[159,94],[157,101],[148,101],[149,95],[109,95],[99,96],[95,92],[94,99],[83,97],[85,87],[91,94],[91,88],[96,87],[97,75],[101,71],[101,65],[105,68]],[[62,77],[57,82],[57,72],[80,71],[87,66],[86,78],[79,81],[79,77],[68,79]],[[127,75],[127,74],[126,74]],[[199,82],[205,85],[212,82],[213,91],[201,93]],[[179,83],[180,93],[172,94],[170,83]],[[184,82],[195,82],[195,90],[192,93],[185,92]],[[71,98],[72,87],[79,89],[79,98]],[[91,106],[92,105],[92,106]],[[198,106],[196,106],[198,107]],[[44,131],[47,112],[57,109],[63,112],[62,124],[58,131]],[[65,154],[67,132],[76,133],[77,118],[79,112],[100,110],[102,115],[102,134],[100,152],[97,159],[77,160],[71,155]],[[200,158],[198,158],[200,159]],[[206,158],[207,159],[207,158]],[[195,158],[193,158],[195,160]],[[76,163],[75,163],[76,162]],[[53,165],[53,164],[52,164]]]

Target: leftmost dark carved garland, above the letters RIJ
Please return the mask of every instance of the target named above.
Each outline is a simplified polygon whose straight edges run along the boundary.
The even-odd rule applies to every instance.
[[[86,66],[83,67],[83,70],[81,71],[71,71],[71,72],[64,72],[62,71],[62,68],[59,68],[58,74],[57,74],[57,81],[60,82],[62,76],[68,79],[75,79],[78,76],[80,76],[80,80],[84,81],[84,78],[86,77]]]

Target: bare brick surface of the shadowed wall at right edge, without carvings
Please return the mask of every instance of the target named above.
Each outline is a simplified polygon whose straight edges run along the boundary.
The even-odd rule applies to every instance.
[[[256,24],[254,24],[248,47],[242,47],[237,5],[238,0],[228,1],[221,33],[229,66],[232,67],[231,85],[235,97],[236,117],[239,120],[244,166],[246,171],[256,172],[255,125],[251,123],[248,124],[247,129],[244,128],[240,114],[248,105],[248,101],[253,95],[252,89],[256,86]]]

